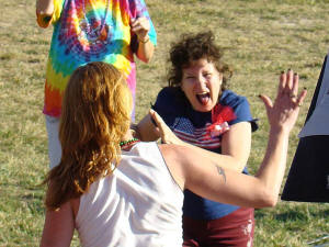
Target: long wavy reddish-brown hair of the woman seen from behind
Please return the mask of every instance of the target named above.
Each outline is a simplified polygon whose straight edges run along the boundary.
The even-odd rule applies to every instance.
[[[94,61],[75,70],[65,90],[59,125],[61,160],[52,169],[45,204],[56,210],[111,175],[131,123],[132,94],[122,72]]]

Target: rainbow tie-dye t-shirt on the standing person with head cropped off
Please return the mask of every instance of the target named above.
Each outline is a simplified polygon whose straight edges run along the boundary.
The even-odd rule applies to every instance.
[[[131,20],[148,18],[150,42],[157,43],[144,0],[54,0],[54,7],[44,113],[60,115],[61,98],[70,75],[79,66],[95,60],[113,64],[122,70],[135,99],[136,65],[132,42],[135,38]]]

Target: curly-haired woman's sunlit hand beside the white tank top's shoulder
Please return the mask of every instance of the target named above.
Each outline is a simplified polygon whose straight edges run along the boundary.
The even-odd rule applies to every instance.
[[[159,136],[161,137],[162,143],[183,145],[183,142],[173,134],[173,132],[170,130],[170,127],[164,123],[164,121],[161,119],[161,116],[156,111],[150,110],[149,114],[157,123],[156,131],[158,132]]]

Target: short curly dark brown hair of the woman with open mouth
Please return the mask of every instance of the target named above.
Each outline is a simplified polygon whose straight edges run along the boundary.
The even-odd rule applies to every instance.
[[[206,58],[214,63],[216,69],[223,74],[222,91],[225,90],[229,78],[232,76],[232,70],[222,60],[222,57],[223,48],[215,44],[215,36],[212,31],[183,34],[182,38],[174,43],[170,49],[169,87],[181,86],[183,68],[189,67],[191,61]]]

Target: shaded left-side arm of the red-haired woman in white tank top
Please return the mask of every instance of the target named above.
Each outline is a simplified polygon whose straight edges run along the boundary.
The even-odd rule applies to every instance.
[[[69,247],[75,231],[73,211],[69,202],[58,211],[46,212],[41,247]]]

